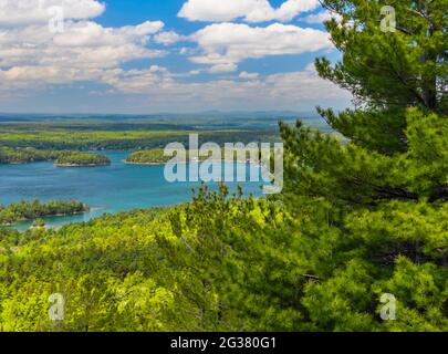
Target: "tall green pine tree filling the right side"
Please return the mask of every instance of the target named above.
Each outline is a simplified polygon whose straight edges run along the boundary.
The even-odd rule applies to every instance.
[[[303,219],[311,200],[330,205],[321,222],[333,238],[314,236],[331,249],[327,267],[314,259],[320,281],[300,302],[306,326],[447,330],[448,2],[388,1],[397,22],[387,33],[383,1],[323,3],[342,19],[326,23],[342,60],[316,69],[353,93],[355,108],[319,108],[344,139],[281,124],[289,210]],[[384,294],[396,299],[396,321],[379,317]]]

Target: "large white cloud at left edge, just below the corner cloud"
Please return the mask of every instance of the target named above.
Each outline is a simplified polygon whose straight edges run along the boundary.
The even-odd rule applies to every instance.
[[[0,30],[0,67],[105,69],[143,58],[164,55],[146,46],[162,22],[103,28],[91,22],[67,22],[63,33],[45,25]]]

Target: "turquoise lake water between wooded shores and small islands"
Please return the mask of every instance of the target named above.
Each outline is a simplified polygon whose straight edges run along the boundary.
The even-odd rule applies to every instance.
[[[54,167],[52,163],[0,165],[0,204],[40,199],[80,200],[90,212],[70,217],[46,218],[48,227],[61,227],[88,221],[103,214],[116,214],[138,208],[171,206],[191,200],[191,188],[199,183],[168,183],[165,166],[126,165],[128,152],[106,153],[112,165],[106,167]],[[227,164],[225,164],[226,167]],[[249,168],[248,174],[249,174]],[[249,180],[249,178],[248,178]],[[261,183],[239,183],[244,195],[260,196]],[[231,190],[237,183],[228,184]],[[216,188],[216,185],[210,185]],[[21,222],[15,229],[25,230],[31,222]]]

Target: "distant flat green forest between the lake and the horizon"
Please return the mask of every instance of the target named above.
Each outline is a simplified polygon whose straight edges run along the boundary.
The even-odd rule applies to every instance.
[[[222,123],[223,124],[223,123]],[[258,140],[279,142],[278,129],[240,128],[215,129],[207,125],[206,133],[199,135],[200,143],[252,143]],[[126,128],[133,131],[117,129]],[[148,128],[154,131],[147,131]],[[93,121],[90,124],[76,122],[62,123],[0,123],[0,165],[29,164],[35,162],[54,162],[66,159],[69,155],[86,150],[137,150],[129,156],[129,163],[167,162],[163,149],[168,143],[188,145],[189,134],[198,134],[195,125],[171,125],[173,131],[156,131],[166,127],[163,124],[145,122],[112,124]],[[154,157],[154,158],[153,158]]]

